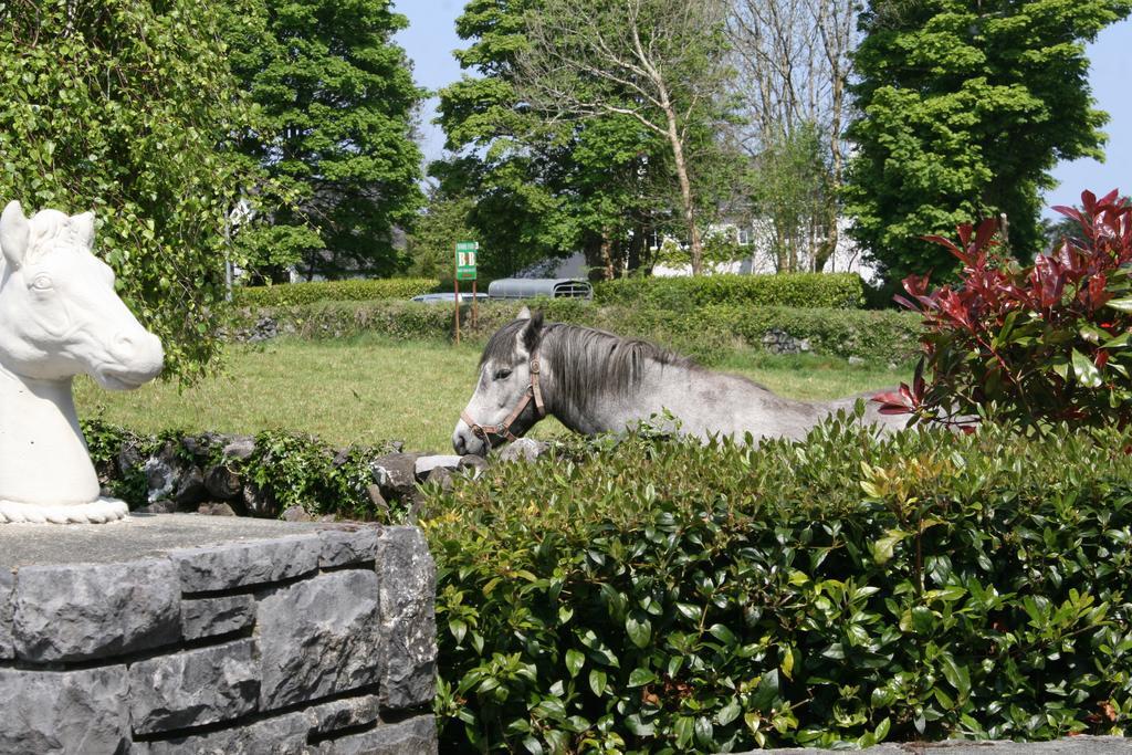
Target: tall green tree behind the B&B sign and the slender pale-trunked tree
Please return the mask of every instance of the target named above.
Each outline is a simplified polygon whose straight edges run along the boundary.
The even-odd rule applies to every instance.
[[[474,199],[470,222],[490,274],[582,250],[602,275],[617,275],[645,265],[657,230],[679,223],[666,143],[626,114],[560,120],[530,106],[518,58],[531,41],[529,14],[547,12],[543,5],[468,2],[457,32],[470,44],[456,54],[474,77],[440,92],[453,155],[430,171],[445,194]]]

